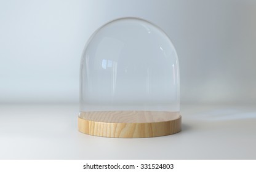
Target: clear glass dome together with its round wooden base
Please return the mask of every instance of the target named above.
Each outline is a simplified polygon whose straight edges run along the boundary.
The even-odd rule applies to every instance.
[[[181,130],[178,57],[162,29],[140,18],[106,23],[80,69],[79,131],[116,138]]]

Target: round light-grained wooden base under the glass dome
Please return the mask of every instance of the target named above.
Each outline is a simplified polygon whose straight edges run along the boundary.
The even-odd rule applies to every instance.
[[[87,135],[110,138],[149,138],[182,130],[178,112],[95,111],[81,112],[78,130]]]

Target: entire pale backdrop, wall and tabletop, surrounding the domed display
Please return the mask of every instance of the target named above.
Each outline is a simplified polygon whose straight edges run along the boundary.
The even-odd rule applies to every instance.
[[[78,132],[82,50],[95,29],[119,17],[145,18],[172,39],[182,132]],[[249,0],[0,0],[0,158],[255,159],[255,17]]]

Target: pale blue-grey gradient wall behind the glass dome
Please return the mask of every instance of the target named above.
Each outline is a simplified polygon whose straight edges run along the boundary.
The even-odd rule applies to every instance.
[[[182,103],[256,103],[256,1],[0,1],[0,103],[79,100],[95,29],[119,17],[161,27],[180,60]]]

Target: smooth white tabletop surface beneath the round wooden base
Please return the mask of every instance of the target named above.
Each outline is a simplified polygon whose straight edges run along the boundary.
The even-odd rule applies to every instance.
[[[102,138],[78,131],[78,104],[1,104],[0,159],[256,159],[256,107],[182,105],[182,131]]]

